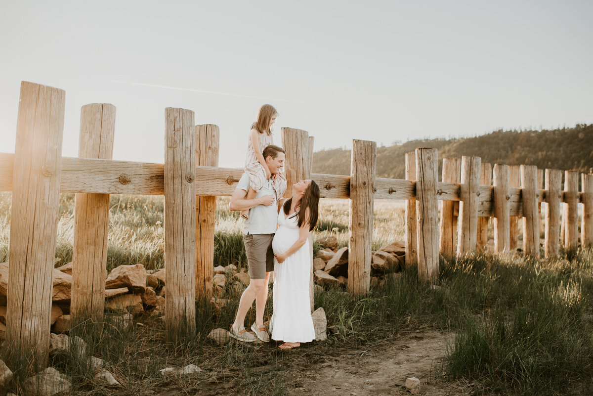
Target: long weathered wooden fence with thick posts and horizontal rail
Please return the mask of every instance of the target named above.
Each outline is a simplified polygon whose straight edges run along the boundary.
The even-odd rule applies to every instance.
[[[195,126],[193,111],[181,108],[165,109],[165,164],[111,159],[110,104],[82,107],[79,157],[62,158],[64,104],[64,91],[23,82],[15,152],[0,153],[0,191],[12,191],[7,340],[46,362],[59,193],[76,193],[71,313],[97,319],[104,309],[109,194],[164,195],[167,338],[192,336],[194,301],[212,293],[214,197],[230,196],[243,170],[217,167],[218,127]],[[444,159],[439,182],[436,149],[419,148],[406,155],[406,180],[378,178],[377,145],[366,140],[353,140],[350,176],[313,174],[313,138],[283,128],[282,141],[289,185],[313,178],[322,198],[350,199],[351,293],[369,290],[375,199],[407,200],[406,266],[417,265],[427,281],[438,274],[439,254],[484,248],[490,217],[497,253],[516,247],[520,216],[524,251],[539,256],[541,202],[547,203],[545,256],[559,252],[561,202],[566,247],[578,243],[578,202],[584,204],[582,244],[593,244],[591,174],[581,175],[579,192],[578,174],[566,171],[562,190],[560,171],[546,170],[541,186],[534,166],[495,164],[492,175],[480,158],[463,157]]]

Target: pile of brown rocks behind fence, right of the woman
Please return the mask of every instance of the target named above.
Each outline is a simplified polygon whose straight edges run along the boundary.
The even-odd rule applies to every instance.
[[[317,285],[337,287],[348,283],[348,248],[337,248],[336,237],[318,239],[323,248],[313,259],[313,274]],[[381,285],[387,273],[398,272],[406,260],[406,243],[396,241],[372,252],[371,286]]]

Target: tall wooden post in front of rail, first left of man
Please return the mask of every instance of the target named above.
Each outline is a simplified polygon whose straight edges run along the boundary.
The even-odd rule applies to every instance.
[[[165,108],[165,326],[167,341],[196,333],[194,113]]]

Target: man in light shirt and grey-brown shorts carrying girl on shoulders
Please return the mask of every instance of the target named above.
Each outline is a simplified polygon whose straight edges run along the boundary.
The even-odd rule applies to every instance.
[[[272,177],[264,183],[254,199],[246,199],[249,190],[249,176],[244,173],[228,206],[229,210],[249,210],[248,219],[244,223],[243,242],[247,254],[248,274],[251,279],[249,286],[241,295],[237,315],[235,315],[235,321],[231,325],[229,334],[237,340],[246,342],[255,341],[257,336],[267,343],[270,341],[270,336],[263,327],[263,311],[266,307],[270,272],[274,270],[272,239],[276,233],[278,201],[284,194],[284,191],[276,192],[273,189],[272,179],[284,165],[285,151],[278,146],[270,145],[264,149],[262,155]],[[251,308],[254,299],[256,301],[256,321],[251,325],[251,330],[256,336],[248,333],[243,326],[247,311]]]

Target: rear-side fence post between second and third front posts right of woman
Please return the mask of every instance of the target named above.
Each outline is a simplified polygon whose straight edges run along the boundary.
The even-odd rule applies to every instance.
[[[442,181],[443,183],[460,183],[461,158],[443,158]],[[451,258],[455,256],[455,241],[457,240],[457,215],[455,215],[455,206],[458,207],[459,202],[443,200],[441,205],[439,251],[443,256]]]

